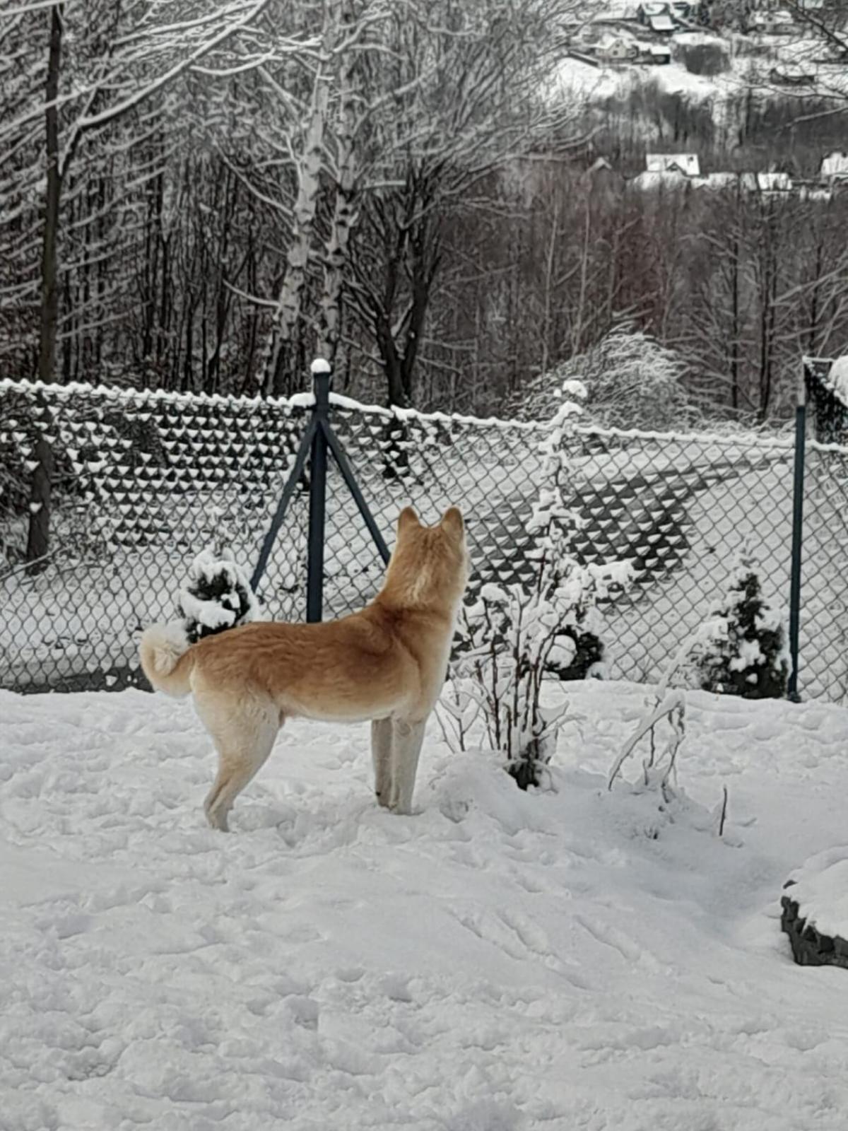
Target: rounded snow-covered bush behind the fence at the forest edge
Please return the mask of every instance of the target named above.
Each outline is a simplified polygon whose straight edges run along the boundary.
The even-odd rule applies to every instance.
[[[586,388],[586,417],[604,428],[658,431],[691,422],[686,364],[656,338],[620,327],[523,387],[510,407],[523,420],[548,420],[569,388]]]

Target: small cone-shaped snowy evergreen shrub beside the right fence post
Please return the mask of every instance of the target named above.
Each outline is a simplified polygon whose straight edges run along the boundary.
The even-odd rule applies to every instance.
[[[784,618],[763,598],[747,549],[739,555],[724,599],[695,633],[689,668],[692,681],[704,691],[743,699],[786,694],[789,657]]]

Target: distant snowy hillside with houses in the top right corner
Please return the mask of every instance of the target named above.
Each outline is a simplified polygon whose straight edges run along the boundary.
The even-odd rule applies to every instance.
[[[848,66],[815,27],[772,8],[742,25],[692,18],[655,32],[640,7],[587,5],[553,83],[555,96],[583,104],[595,152],[621,172],[643,169],[646,149],[685,146],[707,172],[779,164],[813,176],[829,150],[848,149]]]

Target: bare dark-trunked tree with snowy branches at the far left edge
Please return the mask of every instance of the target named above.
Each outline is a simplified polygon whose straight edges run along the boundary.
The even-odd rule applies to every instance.
[[[44,381],[57,379],[57,343],[62,326],[61,253],[73,251],[73,231],[80,235],[79,260],[67,265],[64,278],[71,312],[69,320],[80,326],[80,314],[71,304],[79,292],[69,279],[81,280],[85,305],[102,311],[104,260],[96,242],[92,217],[103,217],[112,206],[109,182],[97,158],[109,164],[112,153],[129,149],[130,136],[124,123],[139,132],[150,128],[148,110],[164,112],[165,98],[184,76],[200,69],[213,75],[228,66],[228,52],[237,38],[258,19],[269,0],[227,0],[213,10],[197,15],[191,0],[158,5],[130,6],[120,0],[93,0],[85,6],[45,5],[43,0],[23,0],[0,14],[0,40],[11,45],[16,71],[24,76],[14,89],[12,113],[0,126],[0,152],[10,158],[16,172],[3,187],[7,204],[2,240],[19,258],[24,248],[41,247],[37,276],[32,273],[21,286],[10,280],[3,295],[15,304],[26,300],[38,286],[37,368]],[[46,43],[42,28],[46,28]],[[284,44],[284,48],[286,44]],[[43,87],[36,81],[38,54],[46,49]],[[283,50],[278,48],[278,50]],[[239,64],[251,66],[253,52],[248,44],[239,53]],[[23,63],[23,67],[21,67]],[[7,78],[7,75],[3,75]],[[37,141],[36,123],[43,119],[43,144]],[[96,144],[103,140],[107,146]],[[92,149],[86,147],[92,145]],[[94,154],[73,182],[75,164],[81,153]],[[41,207],[32,200],[38,185],[33,166],[21,167],[20,155],[43,162],[44,191]],[[94,171],[94,175],[93,174]],[[114,169],[112,170],[114,173]],[[95,191],[90,192],[94,187]],[[79,208],[86,196],[87,208]],[[63,207],[64,205],[64,207]],[[8,218],[7,218],[8,217]],[[107,252],[103,252],[107,254]],[[94,292],[94,300],[92,293]],[[90,323],[85,323],[88,329]],[[40,459],[36,477],[49,476],[45,459]],[[33,519],[36,521],[36,519]],[[49,508],[43,504],[37,523],[45,543]],[[33,539],[31,538],[31,543]],[[41,554],[43,558],[43,553]]]

